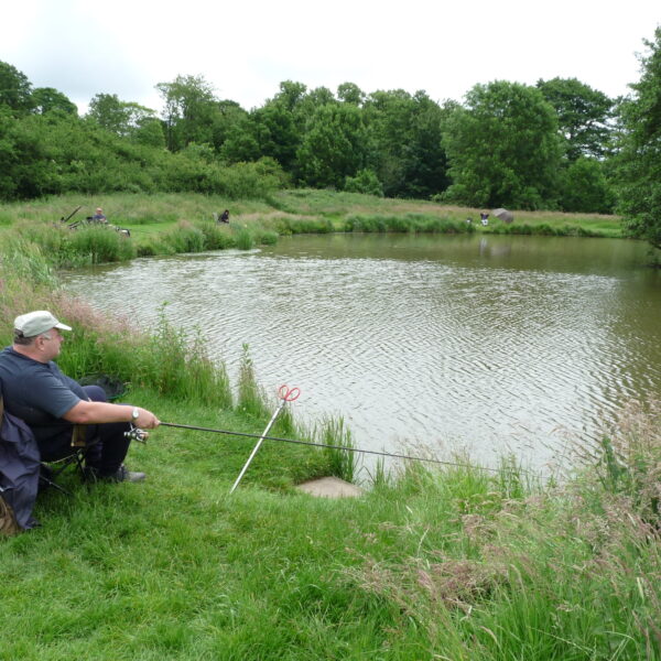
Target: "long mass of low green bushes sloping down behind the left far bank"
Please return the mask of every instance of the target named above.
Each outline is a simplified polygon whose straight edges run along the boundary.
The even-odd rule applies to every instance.
[[[0,174],[3,199],[119,191],[263,198],[288,181],[272,159],[226,166],[213,159],[206,145],[191,145],[173,154],[150,141],[131,141],[77,117],[29,115],[3,117],[2,122],[8,155],[6,172]]]

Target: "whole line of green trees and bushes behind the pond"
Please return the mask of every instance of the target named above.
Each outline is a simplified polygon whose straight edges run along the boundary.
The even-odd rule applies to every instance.
[[[661,29],[613,99],[576,78],[425,91],[333,93],[285,80],[250,110],[202,76],[156,88],[156,111],[97,94],[85,116],[0,62],[0,198],[65,192],[267,195],[278,186],[472,207],[613,213],[661,246]]]

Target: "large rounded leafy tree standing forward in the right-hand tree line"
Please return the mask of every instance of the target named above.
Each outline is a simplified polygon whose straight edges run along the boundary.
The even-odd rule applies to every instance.
[[[554,206],[561,144],[553,107],[534,87],[476,85],[446,122],[453,185],[445,198],[470,206]]]

